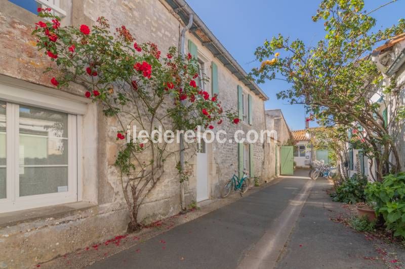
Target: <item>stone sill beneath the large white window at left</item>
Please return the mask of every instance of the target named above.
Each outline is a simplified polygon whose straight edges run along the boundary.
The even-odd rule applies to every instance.
[[[72,214],[96,206],[93,203],[80,201],[13,212],[0,213],[0,229],[20,223],[41,221],[49,218],[64,218]]]

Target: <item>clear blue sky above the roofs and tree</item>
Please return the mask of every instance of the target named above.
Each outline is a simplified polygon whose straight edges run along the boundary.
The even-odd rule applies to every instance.
[[[316,42],[325,35],[323,23],[314,23],[320,0],[186,0],[191,8],[206,23],[215,36],[228,49],[236,61],[249,72],[260,65],[253,62],[256,47],[278,33]],[[366,10],[372,10],[388,0],[366,0]],[[377,13],[376,27],[388,27],[405,17],[405,0],[389,5]],[[283,53],[282,51],[280,51]],[[268,81],[259,85],[270,97],[266,109],[281,109],[292,130],[305,127],[305,110],[302,105],[290,105],[286,100],[277,100],[276,93],[289,85],[283,81]],[[311,123],[311,126],[314,123]]]

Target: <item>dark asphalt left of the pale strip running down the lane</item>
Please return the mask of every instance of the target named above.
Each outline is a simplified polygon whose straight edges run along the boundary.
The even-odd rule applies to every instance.
[[[90,268],[236,268],[307,181],[284,179]]]

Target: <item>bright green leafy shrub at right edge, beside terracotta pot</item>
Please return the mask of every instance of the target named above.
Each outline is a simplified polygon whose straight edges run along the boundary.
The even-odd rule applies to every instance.
[[[374,209],[384,217],[387,229],[405,239],[405,173],[368,184],[366,195],[369,202],[375,202]]]

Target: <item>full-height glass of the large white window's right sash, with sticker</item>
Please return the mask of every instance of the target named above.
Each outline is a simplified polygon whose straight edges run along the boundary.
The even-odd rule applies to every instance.
[[[23,105],[19,111],[20,196],[67,191],[68,115]]]

